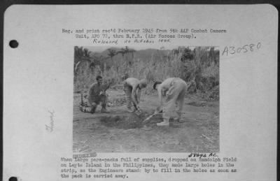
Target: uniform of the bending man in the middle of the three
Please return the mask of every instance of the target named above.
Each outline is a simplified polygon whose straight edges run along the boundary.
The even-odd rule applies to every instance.
[[[123,82],[123,90],[125,92],[127,108],[129,110],[137,110],[137,106],[140,102],[141,96],[141,89],[139,87],[139,84],[140,81],[137,78],[127,78]]]

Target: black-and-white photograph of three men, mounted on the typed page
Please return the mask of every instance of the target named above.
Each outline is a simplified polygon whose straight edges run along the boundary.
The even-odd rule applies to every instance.
[[[73,153],[219,152],[217,46],[73,48]]]

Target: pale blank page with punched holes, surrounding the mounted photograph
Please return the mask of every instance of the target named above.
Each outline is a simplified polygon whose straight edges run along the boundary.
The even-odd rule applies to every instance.
[[[216,45],[220,55],[225,46],[261,43],[254,52],[220,57],[219,156],[237,157],[238,172],[142,173],[130,180],[276,180],[277,18],[271,5],[11,6],[3,37],[3,180],[61,180],[60,157],[72,155],[73,47],[92,45],[62,28],[115,27],[227,29],[171,43]],[[18,48],[8,46],[13,39]],[[48,111],[55,111],[52,133],[45,131]],[[98,153],[127,155],[151,154]]]

